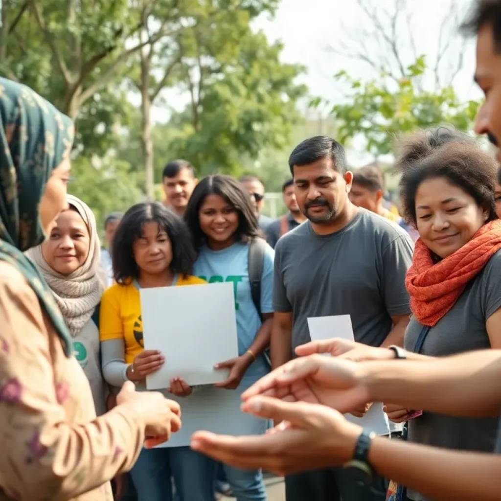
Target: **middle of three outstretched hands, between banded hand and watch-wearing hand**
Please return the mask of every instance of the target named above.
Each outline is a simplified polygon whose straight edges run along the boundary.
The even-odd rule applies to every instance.
[[[363,366],[322,355],[297,358],[261,378],[243,392],[242,400],[264,395],[351,412],[371,400],[363,383]]]

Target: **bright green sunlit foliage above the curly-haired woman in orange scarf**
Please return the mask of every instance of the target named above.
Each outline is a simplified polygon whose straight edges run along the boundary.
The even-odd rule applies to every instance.
[[[479,103],[461,103],[452,86],[437,91],[420,89],[420,78],[426,71],[424,56],[404,69],[395,80],[381,74],[378,80],[363,83],[342,71],[338,81],[351,88],[348,102],[336,104],[332,113],[339,126],[342,143],[356,135],[366,140],[366,149],[376,158],[390,153],[394,137],[444,123],[468,131]]]

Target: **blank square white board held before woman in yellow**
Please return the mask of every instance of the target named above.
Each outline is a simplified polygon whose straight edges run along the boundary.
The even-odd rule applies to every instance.
[[[148,390],[165,389],[173,377],[190,386],[214,384],[228,370],[214,365],[238,356],[233,284],[141,289],[145,350],[159,350],[163,366],[146,377]]]

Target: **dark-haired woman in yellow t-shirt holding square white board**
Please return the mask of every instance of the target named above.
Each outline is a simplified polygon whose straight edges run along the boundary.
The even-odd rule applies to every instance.
[[[134,381],[146,390],[145,377],[165,362],[164,355],[144,350],[139,290],[203,284],[191,275],[195,252],[185,223],[160,203],[131,207],[113,241],[116,284],[103,294],[100,339],[103,376],[112,386]],[[187,396],[181,379],[168,390]],[[174,478],[179,501],[213,501],[215,465],[189,447],[143,449],[131,470],[138,501],[171,501]]]

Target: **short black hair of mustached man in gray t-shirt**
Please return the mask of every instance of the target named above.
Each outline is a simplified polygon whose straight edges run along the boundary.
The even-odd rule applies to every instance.
[[[329,136],[315,136],[298,144],[289,157],[289,167],[294,175],[294,166],[303,167],[322,158],[331,158],[334,168],[340,173],[348,171],[344,148]]]

